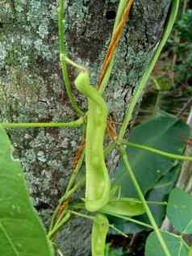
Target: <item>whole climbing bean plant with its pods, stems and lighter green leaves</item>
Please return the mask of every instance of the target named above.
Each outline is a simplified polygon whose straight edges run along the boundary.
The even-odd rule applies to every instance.
[[[129,223],[147,227],[153,232],[149,235],[146,244],[145,255],[192,255],[190,247],[182,239],[182,236],[163,231],[157,225],[155,216],[152,214],[149,204],[166,204],[165,202],[148,202],[144,197],[144,192],[136,178],[135,171],[132,169],[128,148],[136,148],[161,157],[168,157],[174,160],[192,161],[192,157],[165,152],[160,149],[152,148],[148,145],[140,145],[124,139],[130,124],[136,103],[144,92],[152,69],[160,56],[161,50],[172,30],[173,23],[177,17],[179,0],[172,0],[169,10],[169,17],[165,24],[165,30],[156,48],[152,52],[151,60],[144,70],[143,77],[136,86],[134,94],[127,108],[123,123],[116,133],[110,130],[107,122],[109,111],[107,103],[103,99],[103,93],[109,82],[111,70],[114,64],[115,49],[123,34],[123,27],[127,22],[133,0],[120,0],[115,25],[111,36],[111,43],[106,52],[106,58],[103,62],[102,72],[99,74],[98,85],[91,85],[89,69],[78,65],[67,57],[65,52],[65,23],[64,23],[64,0],[59,0],[58,4],[58,27],[60,39],[60,59],[63,78],[65,81],[66,93],[78,119],[64,123],[1,123],[0,124],[0,170],[1,179],[4,184],[0,188],[0,252],[1,255],[40,255],[53,256],[65,255],[56,245],[56,233],[61,228],[65,229],[65,224],[71,221],[73,216],[87,218],[93,222],[91,233],[91,251],[93,256],[106,255],[106,235],[109,230],[127,237],[127,233],[119,229],[115,223],[111,223],[110,216],[122,220],[128,220]],[[77,69],[77,78],[74,84],[80,94],[87,102],[86,112],[77,105],[71,89],[71,82],[67,71],[67,65],[72,65]],[[112,121],[111,121],[112,122]],[[174,124],[177,122],[174,122]],[[32,128],[32,127],[59,127],[59,128],[86,128],[85,141],[81,142],[77,152],[74,168],[69,179],[68,186],[64,195],[61,196],[59,204],[52,214],[52,220],[48,233],[45,232],[43,225],[37,217],[34,208],[29,199],[27,187],[24,182],[20,163],[12,156],[12,146],[5,128]],[[104,139],[106,130],[110,131],[113,141],[106,145]],[[106,145],[104,147],[104,145]],[[131,184],[136,190],[137,198],[122,196],[121,187],[115,185],[106,167],[106,155],[116,149],[125,166],[126,173],[131,179]],[[83,170],[86,162],[86,170]],[[79,171],[81,170],[81,172]],[[148,177],[145,177],[148,178]],[[85,197],[81,202],[71,200],[73,195],[80,187],[86,187]],[[179,208],[177,198],[182,198],[185,205],[190,204],[191,197],[184,191],[173,189],[169,195],[167,215],[173,221],[173,225],[181,233],[192,233],[190,208]],[[177,212],[177,213],[175,213]],[[134,218],[135,216],[148,216],[149,223]],[[184,218],[184,222],[177,221]],[[185,229],[183,228],[185,227]],[[179,245],[179,248],[177,248]]]

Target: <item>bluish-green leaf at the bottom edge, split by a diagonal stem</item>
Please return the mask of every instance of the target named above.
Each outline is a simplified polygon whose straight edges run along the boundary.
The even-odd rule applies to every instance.
[[[189,248],[188,246],[186,246],[185,241],[182,240],[182,237],[175,237],[171,233],[165,232],[161,232],[161,234],[172,256],[189,256]],[[150,235],[148,236],[144,255],[165,256],[165,253],[162,250],[161,244],[155,232],[150,233]]]

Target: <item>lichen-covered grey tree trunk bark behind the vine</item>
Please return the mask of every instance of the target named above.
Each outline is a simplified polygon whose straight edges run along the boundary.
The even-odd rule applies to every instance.
[[[90,68],[97,81],[110,40],[115,0],[66,0],[67,50]],[[131,90],[161,36],[170,0],[136,0],[115,58],[105,98],[116,121],[123,119]],[[76,118],[61,76],[57,36],[57,1],[2,0],[0,10],[0,117],[9,122],[67,121]],[[73,80],[75,73],[70,69]],[[83,97],[77,102],[86,108]],[[65,189],[81,128],[9,130],[34,204],[48,224]],[[90,221],[75,218],[61,232],[65,255],[90,254]]]

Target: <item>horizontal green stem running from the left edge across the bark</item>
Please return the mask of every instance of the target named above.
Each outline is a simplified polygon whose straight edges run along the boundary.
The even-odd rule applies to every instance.
[[[0,123],[2,128],[53,128],[53,127],[78,127],[85,124],[84,117],[67,123]]]

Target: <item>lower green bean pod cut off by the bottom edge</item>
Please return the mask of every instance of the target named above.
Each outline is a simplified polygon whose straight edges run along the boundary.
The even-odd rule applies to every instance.
[[[106,216],[97,214],[94,218],[94,225],[91,233],[92,256],[104,256],[108,229],[109,222]]]

